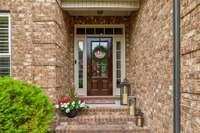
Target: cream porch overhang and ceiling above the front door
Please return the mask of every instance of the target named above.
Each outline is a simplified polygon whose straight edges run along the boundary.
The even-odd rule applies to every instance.
[[[139,0],[62,0],[71,16],[129,16],[139,9]]]

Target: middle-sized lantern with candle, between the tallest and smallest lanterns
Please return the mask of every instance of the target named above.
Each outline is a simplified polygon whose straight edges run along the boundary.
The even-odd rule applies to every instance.
[[[136,97],[135,96],[128,97],[128,107],[129,107],[129,114],[135,115],[135,112],[136,112]]]

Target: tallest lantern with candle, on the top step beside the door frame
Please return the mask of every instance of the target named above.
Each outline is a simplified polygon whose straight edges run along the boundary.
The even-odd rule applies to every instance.
[[[128,95],[130,90],[130,84],[127,79],[120,84],[120,103],[121,105],[128,104]]]

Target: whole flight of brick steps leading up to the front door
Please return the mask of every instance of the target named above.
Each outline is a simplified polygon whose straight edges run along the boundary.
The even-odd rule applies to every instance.
[[[127,106],[92,107],[76,117],[61,116],[56,133],[149,133],[146,127],[135,126],[135,116]]]

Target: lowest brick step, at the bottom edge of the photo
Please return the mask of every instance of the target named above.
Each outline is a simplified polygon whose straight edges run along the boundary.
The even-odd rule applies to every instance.
[[[120,125],[68,125],[62,123],[57,126],[56,133],[149,133],[147,127],[136,127],[133,124]]]

